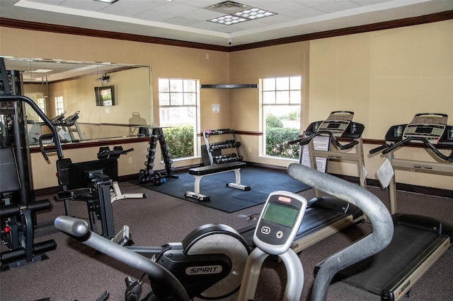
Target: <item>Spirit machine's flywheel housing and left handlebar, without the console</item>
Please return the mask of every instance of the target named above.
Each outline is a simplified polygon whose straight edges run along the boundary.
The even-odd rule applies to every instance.
[[[108,240],[90,231],[85,220],[69,216],[59,216],[55,227],[144,273],[139,281],[125,279],[127,301],[222,299],[239,289],[251,252],[236,230],[219,224],[203,225],[182,242],[161,247],[127,246],[127,227],[115,240]],[[140,299],[145,276],[151,281],[152,291]]]

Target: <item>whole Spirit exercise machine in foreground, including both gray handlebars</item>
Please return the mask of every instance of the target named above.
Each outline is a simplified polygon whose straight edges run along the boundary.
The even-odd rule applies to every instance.
[[[352,244],[347,249],[334,254],[324,262],[314,283],[312,300],[325,300],[328,285],[331,283],[336,272],[367,256],[379,252],[389,244],[393,235],[393,223],[389,211],[386,210],[384,204],[379,201],[376,196],[362,187],[358,187],[350,182],[346,182],[342,179],[324,174],[317,170],[312,170],[309,167],[299,164],[289,165],[288,174],[304,184],[308,184],[316,189],[321,189],[328,194],[340,197],[354,204],[367,214],[373,225],[374,231],[370,235],[355,242],[355,244]],[[276,217],[283,218],[283,220],[289,220],[289,218],[286,218],[287,215],[282,214],[282,211],[279,209],[272,210],[273,216],[267,216],[266,208],[268,208],[267,204],[270,199],[271,198],[268,199],[263,213],[261,213],[260,221],[258,222],[258,227],[254,234],[254,240],[258,235],[257,232],[261,232],[262,234],[273,233],[273,230],[268,230],[268,228],[266,228],[268,225],[262,224],[261,220],[268,220],[268,223],[274,223],[274,225]],[[288,200],[285,199],[285,196],[282,201],[288,202]],[[305,211],[303,207],[304,205],[300,206],[299,211],[297,212],[300,213],[300,211],[302,211],[303,213]],[[280,224],[280,226],[282,224],[285,226],[285,223],[286,222],[281,219],[280,223],[277,221],[277,224]],[[263,258],[267,256],[266,252],[268,251],[266,247],[263,247],[263,244],[255,241],[257,248],[253,250],[251,256],[248,256],[248,245],[235,230],[225,225],[205,225],[191,232],[188,237],[185,237],[183,243],[168,244],[166,247],[164,246],[164,249],[162,249],[163,247],[144,247],[144,252],[158,254],[151,260],[137,253],[141,249],[139,247],[122,247],[119,244],[115,244],[115,242],[105,239],[105,237],[90,232],[88,230],[88,224],[84,220],[71,218],[69,216],[59,216],[55,220],[55,227],[58,230],[72,235],[77,240],[88,245],[88,247],[92,247],[99,252],[107,254],[108,256],[147,274],[151,283],[154,283],[151,284],[151,286],[156,292],[153,292],[144,300],[185,301],[195,296],[216,299],[218,297],[226,296],[226,292],[228,292],[227,294],[234,293],[234,291],[237,290],[238,281],[240,282],[241,279],[239,300],[249,300],[250,298],[253,298],[255,293],[260,264],[262,263]],[[293,230],[297,230],[299,224],[294,222],[287,228],[290,228],[291,230],[289,230],[289,232],[294,234]],[[285,236],[285,233],[283,233],[283,235],[281,235],[281,233],[279,234],[279,230],[275,232],[275,235],[277,235],[276,237],[285,237],[289,244],[294,239],[292,235]],[[234,244],[224,244],[222,242],[224,238],[229,242],[234,242]],[[205,242],[209,243],[206,244]],[[214,244],[212,242],[217,243]],[[268,243],[273,244],[272,241]],[[289,244],[286,244],[285,248],[289,247]],[[215,246],[214,248],[217,248],[217,245],[222,245],[222,248],[213,250],[212,247]],[[134,252],[134,248],[136,248],[135,251],[137,252]],[[260,251],[261,248],[264,250]],[[280,252],[285,252],[285,248],[280,249]],[[175,254],[178,254],[177,257],[187,260],[181,260],[180,262],[178,262],[179,260],[172,261],[171,258],[173,255],[171,254],[173,254],[173,249]],[[273,248],[270,247],[270,250],[270,252],[272,252]],[[292,249],[289,249],[289,252],[294,254]],[[212,254],[217,254],[219,256],[215,259],[217,263],[213,264],[212,261],[205,262],[203,260],[206,256],[209,256],[208,258],[210,258]],[[229,256],[231,254],[239,254],[239,261],[237,256]],[[190,258],[191,256],[193,256],[193,259]],[[294,258],[294,256],[292,257]],[[285,300],[299,300],[299,294],[302,292],[302,264],[297,256],[296,259],[297,260],[292,260],[294,265],[290,264],[289,266],[286,266],[289,281],[287,283],[287,288],[289,287],[289,289],[285,289]],[[196,263],[195,266],[191,263],[191,260],[194,260],[193,262]],[[198,283],[198,281],[202,279],[201,277],[210,279],[213,275],[216,275],[215,273],[224,268],[224,263],[222,263],[222,261],[226,263],[228,260],[232,260],[235,263],[233,266],[239,266],[239,268],[229,269],[229,276],[217,281],[217,283],[212,285],[212,287],[207,288],[207,290],[203,290],[204,288],[202,288],[201,290],[203,291],[197,289],[197,292],[197,290],[193,289],[192,285],[203,285],[203,283]],[[245,261],[247,261],[247,264],[243,276],[240,268]],[[195,273],[195,278],[192,278],[194,276],[191,274],[192,272]],[[232,281],[232,284],[230,281]],[[126,299],[127,301],[139,300],[138,295],[134,295],[133,293],[135,293],[135,289],[137,292],[139,291],[140,282],[141,281],[137,281],[137,283],[134,284],[130,279],[127,279],[129,288],[127,290],[126,298],[130,297],[130,299]],[[185,283],[185,285],[181,283]],[[212,294],[207,294],[207,292],[211,292],[211,288],[215,288],[212,289]],[[221,293],[215,295],[214,292]]]

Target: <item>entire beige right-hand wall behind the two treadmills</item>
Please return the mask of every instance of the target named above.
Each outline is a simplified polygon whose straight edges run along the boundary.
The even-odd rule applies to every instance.
[[[453,20],[393,30],[347,35],[310,42],[233,52],[231,82],[257,83],[259,78],[301,74],[304,81],[301,131],[334,110],[355,112],[365,124],[363,138],[384,139],[389,126],[411,122],[414,114],[449,114],[453,124]],[[231,126],[259,131],[258,90],[231,91]],[[259,156],[258,136],[241,136],[246,160],[287,166],[289,160]],[[368,177],[375,179],[384,161],[368,155]],[[248,152],[251,148],[251,153]],[[443,150],[449,153],[451,150]],[[399,158],[433,158],[423,149],[406,148]],[[331,163],[329,172],[357,175],[355,165]],[[453,189],[447,176],[397,172],[397,181]]]

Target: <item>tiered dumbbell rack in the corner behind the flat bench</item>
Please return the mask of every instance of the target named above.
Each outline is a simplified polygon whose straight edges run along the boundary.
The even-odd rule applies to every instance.
[[[217,135],[231,135],[232,139],[210,143],[210,136]],[[239,153],[241,142],[236,141],[234,129],[206,130],[203,131],[203,137],[205,138],[206,151],[211,165],[242,161],[242,156]],[[230,151],[231,149],[234,149],[234,152],[226,154],[222,153],[222,150],[226,149],[229,149]]]

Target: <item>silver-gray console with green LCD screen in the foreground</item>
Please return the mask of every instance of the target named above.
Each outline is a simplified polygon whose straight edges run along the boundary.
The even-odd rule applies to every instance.
[[[270,193],[253,235],[256,247],[271,255],[287,252],[302,223],[306,203],[303,196],[291,192]]]

